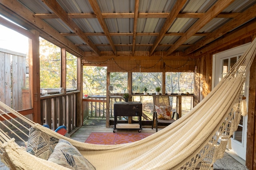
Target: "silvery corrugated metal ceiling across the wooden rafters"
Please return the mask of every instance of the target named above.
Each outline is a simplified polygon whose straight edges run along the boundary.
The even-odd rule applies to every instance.
[[[170,23],[167,22],[172,16],[168,16],[168,14],[175,12],[176,5],[182,0],[180,2],[177,0],[139,0],[138,18],[135,19],[136,0],[56,1],[62,10],[68,14],[68,20],[72,19],[74,21],[95,45],[96,49],[90,43],[86,43],[84,37],[79,34],[76,35],[76,29],[72,27],[72,24],[69,25],[67,21],[62,20],[59,16],[61,13],[54,15],[56,7],[45,4],[44,0],[19,0],[22,5],[26,6],[47,25],[58,31],[60,36],[66,37],[83,51],[97,53],[98,49],[99,51],[113,51],[113,53],[116,53],[116,51],[150,51],[154,48],[152,53],[154,51],[167,51],[168,53],[168,50],[177,41],[180,41],[179,39],[184,34],[188,35],[191,31],[194,31],[191,30],[195,29],[194,24],[198,23],[197,21],[203,18],[211,7],[221,0],[187,0],[176,13],[178,16]],[[255,4],[255,0],[234,0],[218,14],[236,13],[239,15]],[[99,9],[99,11],[95,11],[95,9]],[[198,30],[196,30],[198,35],[195,33],[195,35],[186,37],[184,42],[179,44],[180,47],[177,47],[174,51],[185,51],[190,45],[201,41],[209,33],[221,28],[225,23],[236,17],[225,17],[224,15],[224,17],[216,17],[218,14],[213,16],[210,21],[206,21],[204,25],[200,25],[201,27],[198,27]],[[134,22],[136,22],[136,29],[134,29]],[[165,28],[164,24],[169,26]],[[135,30],[136,36],[134,37]],[[165,35],[159,35],[161,31]],[[73,35],[70,33],[73,33]],[[206,34],[200,35],[199,33]],[[159,38],[160,41],[158,41]]]

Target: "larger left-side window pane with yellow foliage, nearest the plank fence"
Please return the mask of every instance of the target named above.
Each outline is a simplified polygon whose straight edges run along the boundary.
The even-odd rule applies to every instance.
[[[40,38],[40,87],[48,94],[60,89],[60,47]]]

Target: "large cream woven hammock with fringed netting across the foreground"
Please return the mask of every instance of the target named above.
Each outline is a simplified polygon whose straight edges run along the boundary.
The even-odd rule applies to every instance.
[[[30,121],[2,103],[0,106],[43,133],[69,141],[97,170],[190,170],[196,166],[208,170],[216,159],[222,158],[231,135],[237,130],[241,112],[246,112],[246,106],[242,108],[242,87],[255,52],[254,39],[230,72],[198,105],[168,127],[133,143],[78,142]],[[6,111],[1,112],[1,116],[8,115]],[[66,169],[27,153],[2,130],[0,141],[1,160],[11,169]]]

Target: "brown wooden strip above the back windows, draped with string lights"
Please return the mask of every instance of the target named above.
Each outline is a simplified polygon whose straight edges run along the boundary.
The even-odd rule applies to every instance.
[[[195,60],[109,60],[107,72],[194,72]]]

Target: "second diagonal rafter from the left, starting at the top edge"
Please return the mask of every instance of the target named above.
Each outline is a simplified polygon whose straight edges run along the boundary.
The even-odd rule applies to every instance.
[[[66,11],[58,4],[56,0],[42,0],[48,8],[50,8],[54,13],[64,21],[70,29],[72,29],[89,47],[98,55],[100,55],[99,49],[92,43],[90,39],[84,34],[84,32],[76,25],[76,23],[68,16]]]

